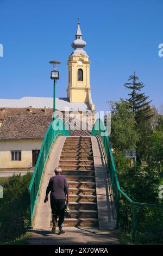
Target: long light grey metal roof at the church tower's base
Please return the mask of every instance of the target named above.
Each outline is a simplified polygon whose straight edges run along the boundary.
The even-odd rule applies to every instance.
[[[21,99],[0,99],[0,108],[53,108],[53,97],[22,97]],[[70,102],[68,97],[56,98],[58,111],[91,111],[89,103]]]

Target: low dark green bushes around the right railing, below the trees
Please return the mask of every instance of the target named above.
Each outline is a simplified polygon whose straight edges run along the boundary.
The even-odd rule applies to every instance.
[[[163,204],[159,199],[159,185],[163,179],[158,170],[140,167],[135,164],[129,168],[128,160],[121,152],[114,153],[114,160],[121,189],[134,201],[148,204]],[[131,234],[133,209],[128,200],[120,199],[120,230],[122,234]],[[161,243],[163,241],[163,210],[137,206],[136,239],[138,243]]]

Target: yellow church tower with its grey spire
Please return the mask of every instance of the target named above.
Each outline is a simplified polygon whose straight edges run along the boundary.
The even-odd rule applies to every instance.
[[[67,97],[70,102],[89,103],[91,111],[95,111],[95,105],[91,99],[90,86],[90,61],[89,56],[83,50],[86,42],[82,39],[82,32],[78,20],[76,40],[72,42],[74,51],[68,58],[68,88]]]

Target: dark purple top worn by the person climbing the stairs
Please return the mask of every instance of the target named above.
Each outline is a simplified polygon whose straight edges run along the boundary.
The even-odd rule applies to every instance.
[[[49,180],[46,194],[51,191],[51,199],[65,199],[68,193],[68,184],[65,176],[57,174]]]

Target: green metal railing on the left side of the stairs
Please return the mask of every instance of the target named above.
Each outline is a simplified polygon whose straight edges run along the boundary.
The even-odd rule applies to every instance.
[[[65,124],[60,119],[55,119],[48,127],[46,135],[43,139],[39,157],[36,162],[36,166],[32,175],[32,179],[29,184],[29,196],[30,196],[30,206],[29,206],[29,218],[30,226],[32,227],[33,216],[35,212],[35,207],[37,203],[37,197],[39,196],[39,188],[41,184],[41,179],[43,171],[46,166],[46,161],[48,159],[49,153],[51,151],[52,145],[55,139],[59,135],[68,136],[68,130]]]

